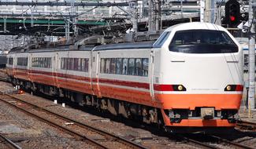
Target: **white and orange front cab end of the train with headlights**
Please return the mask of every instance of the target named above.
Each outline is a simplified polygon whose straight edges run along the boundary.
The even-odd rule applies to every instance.
[[[166,29],[154,48],[154,95],[163,104],[167,128],[235,126],[243,52],[228,31],[214,24],[179,24]]]

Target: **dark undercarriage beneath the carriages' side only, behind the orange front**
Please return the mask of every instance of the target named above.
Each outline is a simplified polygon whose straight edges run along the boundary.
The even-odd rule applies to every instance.
[[[161,111],[155,107],[133,104],[122,100],[110,99],[107,97],[98,98],[86,93],[79,93],[69,89],[61,89],[56,86],[43,85],[26,80],[9,78],[13,85],[20,85],[28,93],[43,93],[47,96],[54,96],[65,102],[79,104],[82,107],[94,107],[98,111],[109,112],[113,115],[121,115],[124,118],[132,118],[138,122],[163,126]]]

